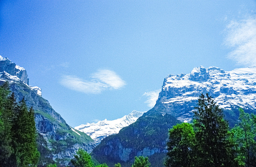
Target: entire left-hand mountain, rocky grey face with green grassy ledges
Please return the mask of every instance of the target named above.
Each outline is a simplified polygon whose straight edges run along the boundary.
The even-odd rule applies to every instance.
[[[56,113],[49,102],[41,97],[41,89],[28,85],[26,70],[7,58],[0,57],[0,84],[8,81],[17,101],[24,97],[28,107],[35,110],[38,150],[41,154],[39,165],[57,163],[67,165],[78,148],[91,152],[96,146],[83,132],[68,126]]]

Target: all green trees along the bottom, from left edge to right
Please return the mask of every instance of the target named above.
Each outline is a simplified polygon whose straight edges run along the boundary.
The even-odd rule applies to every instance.
[[[256,115],[239,111],[238,124],[231,128],[214,99],[202,94],[193,123],[180,123],[169,130],[164,166],[255,167]],[[37,167],[37,137],[33,108],[28,109],[24,99],[16,102],[5,82],[0,86],[0,167]],[[74,155],[71,166],[108,167],[82,149]],[[132,167],[150,167],[149,158],[135,157]]]

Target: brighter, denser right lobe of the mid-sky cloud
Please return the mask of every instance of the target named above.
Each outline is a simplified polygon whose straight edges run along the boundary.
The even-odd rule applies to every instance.
[[[125,82],[114,71],[110,70],[99,70],[93,74],[92,78],[99,79],[114,89],[119,89],[125,85]]]

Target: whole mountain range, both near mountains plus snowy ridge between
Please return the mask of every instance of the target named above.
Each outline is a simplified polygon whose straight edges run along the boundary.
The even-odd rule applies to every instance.
[[[117,163],[131,167],[135,156],[149,157],[151,166],[163,167],[168,130],[177,123],[192,121],[202,93],[215,99],[231,127],[237,123],[240,107],[256,113],[256,67],[225,71],[200,66],[189,74],[168,75],[151,110],[133,111],[117,120],[75,128],[66,124],[42,98],[39,87],[29,85],[24,68],[0,56],[0,83],[5,81],[17,101],[24,98],[27,106],[35,110],[37,149],[41,154],[38,165],[66,166],[78,148],[82,148],[109,167]]]

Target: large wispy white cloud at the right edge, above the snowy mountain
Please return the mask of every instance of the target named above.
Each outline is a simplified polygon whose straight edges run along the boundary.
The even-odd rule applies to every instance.
[[[225,44],[234,48],[228,57],[238,64],[256,66],[256,15],[240,21],[233,20],[226,30]]]

